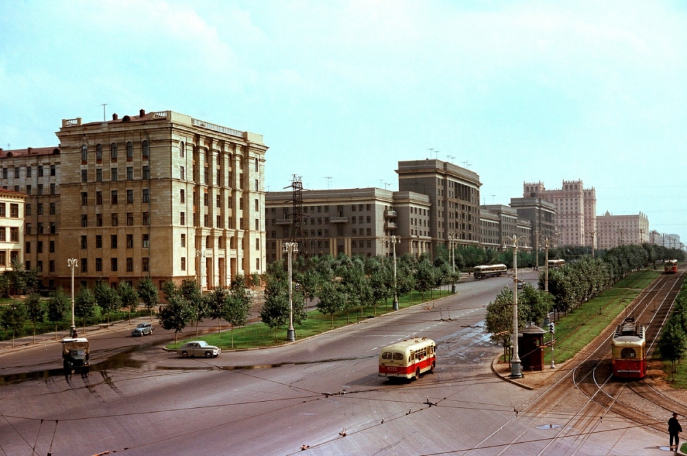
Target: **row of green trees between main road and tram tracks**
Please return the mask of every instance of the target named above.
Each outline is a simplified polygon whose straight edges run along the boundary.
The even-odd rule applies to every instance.
[[[598,296],[632,271],[657,260],[684,259],[684,252],[665,249],[652,244],[627,244],[607,251],[597,251],[592,258],[581,252],[585,248],[563,247],[555,255],[566,259],[565,266],[549,269],[549,293],[544,288],[544,272],[539,274],[539,290],[525,284],[518,292],[518,325],[538,322],[548,312],[570,312],[580,304]],[[566,255],[567,253],[567,255]],[[512,253],[510,253],[512,258]],[[566,258],[567,256],[567,258]],[[555,258],[555,257],[554,257]],[[520,254],[518,254],[520,264]],[[687,328],[687,326],[686,326]],[[510,347],[513,332],[513,290],[506,287],[486,308],[486,330],[491,340],[504,345],[504,354]]]

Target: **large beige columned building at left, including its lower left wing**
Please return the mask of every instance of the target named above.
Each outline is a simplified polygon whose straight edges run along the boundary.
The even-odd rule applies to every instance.
[[[57,136],[59,148],[0,153],[3,187],[28,194],[25,261],[43,286],[67,283],[67,258],[91,285],[150,276],[207,289],[264,271],[262,135],[142,110],[65,119]]]

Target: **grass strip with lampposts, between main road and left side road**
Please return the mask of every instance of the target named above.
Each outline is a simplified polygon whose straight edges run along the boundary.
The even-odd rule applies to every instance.
[[[422,304],[423,302],[431,301],[430,293],[422,295],[418,292],[409,293],[403,297],[398,298],[398,308],[407,308]],[[447,290],[434,290],[433,298],[451,295]],[[377,304],[375,308],[372,306],[363,307],[362,314],[359,308],[351,310],[348,313],[348,320],[346,313],[335,314],[333,322],[328,314],[322,314],[319,310],[311,310],[308,312],[308,319],[301,325],[295,325],[296,339],[304,339],[305,337],[314,336],[332,330],[334,328],[341,328],[358,321],[374,318],[375,316],[384,315],[392,311],[392,301]],[[232,350],[232,334],[231,330],[224,330],[223,332],[216,332],[213,334],[203,334],[202,336],[184,339],[177,343],[170,343],[167,348],[176,350],[182,343],[190,340],[206,341],[210,345],[221,347],[222,350]],[[273,329],[264,323],[255,323],[241,328],[234,329],[234,350],[246,349],[254,347],[273,347],[275,345],[282,345],[286,343],[286,328],[278,328],[276,333]]]

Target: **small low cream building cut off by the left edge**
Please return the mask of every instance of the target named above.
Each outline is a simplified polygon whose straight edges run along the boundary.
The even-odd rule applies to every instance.
[[[0,273],[24,261],[24,198],[22,192],[0,189]],[[30,246],[27,242],[27,248]]]

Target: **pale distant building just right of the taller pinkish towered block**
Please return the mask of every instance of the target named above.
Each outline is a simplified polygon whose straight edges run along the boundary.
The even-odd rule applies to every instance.
[[[649,218],[646,214],[614,216],[606,214],[596,218],[598,248],[612,249],[623,244],[649,242]]]

